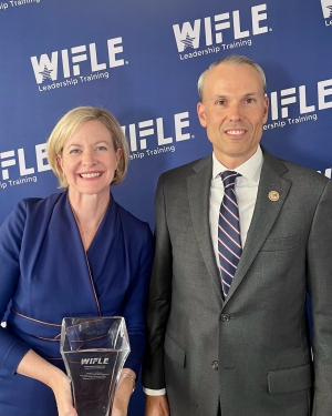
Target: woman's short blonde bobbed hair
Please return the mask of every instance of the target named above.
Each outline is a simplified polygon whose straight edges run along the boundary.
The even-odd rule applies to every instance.
[[[58,155],[62,154],[64,143],[73,135],[76,129],[81,124],[91,120],[100,121],[110,131],[115,152],[118,149],[122,150],[117,170],[111,185],[120,184],[127,173],[129,162],[128,143],[115,116],[110,113],[110,111],[102,108],[77,106],[69,111],[59,120],[46,143],[49,163],[59,180],[59,187],[61,189],[66,189],[69,184],[60,164],[58,163]]]

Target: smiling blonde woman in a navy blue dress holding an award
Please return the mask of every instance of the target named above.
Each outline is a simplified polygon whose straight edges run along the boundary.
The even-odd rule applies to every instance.
[[[104,109],[66,113],[48,141],[65,191],[21,201],[0,229],[0,415],[76,416],[60,355],[64,316],[124,316],[131,354],[112,415],[126,415],[144,351],[149,227],[120,206],[127,142]],[[56,409],[58,406],[58,409]]]

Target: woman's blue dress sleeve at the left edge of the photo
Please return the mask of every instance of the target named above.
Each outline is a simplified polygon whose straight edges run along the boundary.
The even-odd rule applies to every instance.
[[[25,203],[20,202],[0,229],[0,314],[1,321],[20,278],[20,251],[25,225]],[[0,327],[0,368],[13,374],[29,345]]]

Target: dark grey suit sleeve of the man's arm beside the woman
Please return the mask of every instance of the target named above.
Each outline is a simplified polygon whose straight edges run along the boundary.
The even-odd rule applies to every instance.
[[[167,227],[164,175],[156,191],[155,260],[147,312],[147,345],[142,384],[145,388],[165,388],[164,339],[172,301],[172,243]]]

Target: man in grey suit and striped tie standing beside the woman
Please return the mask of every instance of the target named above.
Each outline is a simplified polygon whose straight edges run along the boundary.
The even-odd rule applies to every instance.
[[[259,145],[257,63],[230,55],[198,89],[214,152],[158,182],[146,416],[331,416],[331,181]]]

